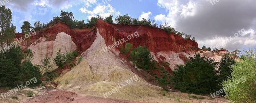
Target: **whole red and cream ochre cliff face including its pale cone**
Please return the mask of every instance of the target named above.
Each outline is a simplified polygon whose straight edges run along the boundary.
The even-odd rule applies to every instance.
[[[175,64],[184,64],[189,55],[199,51],[195,41],[183,39],[176,34],[167,34],[164,30],[148,26],[111,25],[101,19],[91,28],[70,29],[60,22],[37,32],[36,36],[31,37],[32,43],[28,47],[33,51],[34,64],[42,65],[41,60],[45,55],[51,59],[56,57],[59,49],[62,52],[78,50],[83,56],[81,63],[55,80],[60,82],[59,89],[80,95],[104,97],[105,93],[105,97],[121,99],[160,95],[160,87],[145,81],[144,77],[148,74],[136,70],[132,63],[120,54],[121,45],[128,42],[132,43],[133,47],[140,45],[149,48],[158,63],[170,63],[170,66],[165,68],[170,74]],[[130,35],[133,35],[133,38]],[[17,34],[17,38],[20,36],[22,34]],[[117,41],[120,45],[113,45]],[[109,46],[115,47],[105,49]],[[53,61],[51,63],[53,64]],[[54,66],[53,69],[56,68],[58,67]],[[130,82],[126,83],[127,81]],[[124,87],[121,85],[123,83]],[[109,91],[116,93],[108,93]]]

